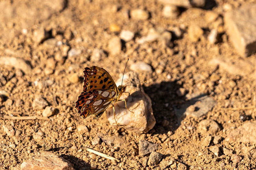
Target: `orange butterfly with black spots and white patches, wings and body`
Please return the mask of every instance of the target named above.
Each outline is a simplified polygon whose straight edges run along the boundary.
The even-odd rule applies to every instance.
[[[84,69],[84,90],[76,101],[76,109],[80,116],[86,118],[94,115],[98,119],[109,105],[118,101],[125,90],[124,85],[116,86],[113,78],[98,66]]]

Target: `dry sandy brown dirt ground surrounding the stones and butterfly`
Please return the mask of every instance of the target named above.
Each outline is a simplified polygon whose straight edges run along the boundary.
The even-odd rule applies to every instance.
[[[207,1],[202,8],[178,8],[178,16],[167,18],[162,14],[165,5],[153,0],[0,1],[0,11],[4,11],[0,14],[0,57],[8,57],[0,63],[0,168],[19,169],[22,162],[42,152],[44,144],[53,144],[48,152],[67,159],[75,169],[171,169],[161,163],[170,158],[188,169],[255,169],[255,141],[228,140],[245,122],[256,122],[255,79],[249,73],[237,75],[220,69],[213,62],[216,58],[229,59],[230,64],[255,60],[255,54],[244,58],[236,53],[223,23],[224,7],[235,9],[246,3],[250,1]],[[147,11],[148,18],[134,18],[133,9]],[[209,12],[216,17],[206,20]],[[215,43],[210,43],[207,36],[214,24],[218,25],[218,36]],[[188,33],[192,25],[203,30],[196,41]],[[170,41],[139,43],[152,28],[171,33]],[[116,54],[109,42],[120,37],[122,30],[131,31],[134,37],[122,40]],[[102,50],[100,59],[93,59],[95,49]],[[116,80],[123,74],[127,57],[127,72],[136,61],[152,68],[137,71],[140,80],[147,80],[143,88],[152,100],[156,118],[156,125],[146,134],[111,126],[105,115],[97,120],[83,119],[75,108],[83,90],[85,67],[103,67]],[[204,94],[216,103],[202,116],[179,117],[177,110],[193,94]],[[42,116],[44,108],[33,105],[39,95],[48,106],[56,108],[49,119],[4,119],[4,115]],[[218,131],[203,133],[199,122],[204,119],[217,122]],[[85,125],[89,132],[78,132],[78,125]],[[111,147],[102,141],[92,145],[99,133],[123,137],[126,146]],[[248,135],[253,136],[254,131],[251,133]],[[220,140],[214,141],[217,138]],[[156,152],[163,155],[159,163],[142,163],[149,154],[139,155],[140,139],[159,144]],[[215,146],[220,149],[217,153],[212,149]],[[121,161],[92,155],[84,147]],[[233,155],[239,160],[235,161]]]

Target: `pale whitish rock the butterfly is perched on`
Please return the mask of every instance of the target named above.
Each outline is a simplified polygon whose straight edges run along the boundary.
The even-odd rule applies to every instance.
[[[132,81],[133,80],[133,81]],[[117,81],[117,85],[120,85],[122,78]],[[147,133],[156,124],[156,119],[153,115],[151,100],[144,92],[142,86],[131,85],[140,82],[138,75],[135,72],[128,72],[124,75],[124,85],[127,86],[125,93],[123,93],[119,100],[126,100],[128,109],[125,108],[124,101],[118,101],[114,104],[115,118],[113,114],[113,108],[109,107],[107,111],[108,121],[111,125],[116,125],[116,122],[120,126],[124,126],[125,129],[133,131],[135,133]],[[129,93],[127,93],[129,92]]]

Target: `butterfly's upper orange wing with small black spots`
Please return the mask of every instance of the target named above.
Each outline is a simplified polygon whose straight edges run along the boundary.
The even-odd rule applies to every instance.
[[[84,69],[84,92],[92,92],[95,89],[113,89],[118,92],[116,83],[108,71],[97,66],[86,67]]]

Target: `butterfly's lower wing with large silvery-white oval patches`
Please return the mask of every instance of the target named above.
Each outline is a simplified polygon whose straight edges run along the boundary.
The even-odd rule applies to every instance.
[[[98,119],[108,106],[115,100],[114,90],[92,90],[82,92],[76,101],[76,109],[83,118],[94,115],[93,119]]]

